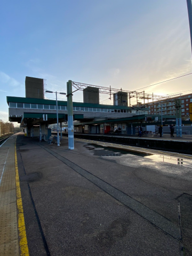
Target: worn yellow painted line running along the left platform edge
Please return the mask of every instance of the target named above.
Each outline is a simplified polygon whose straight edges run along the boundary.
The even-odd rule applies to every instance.
[[[17,137],[16,137],[16,139],[17,139]],[[29,256],[25,219],[24,219],[24,214],[23,214],[21,190],[20,190],[20,183],[19,183],[16,139],[15,139],[15,182],[16,182],[17,208],[18,208],[18,230],[19,230],[19,245],[20,245],[20,253],[21,253],[20,255],[21,256],[24,256],[24,255]]]

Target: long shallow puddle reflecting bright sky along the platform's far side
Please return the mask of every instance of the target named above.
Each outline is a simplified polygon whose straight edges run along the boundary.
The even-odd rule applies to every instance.
[[[177,157],[171,157],[171,156],[165,156],[165,155],[155,155],[155,154],[145,154],[145,153],[139,153],[134,151],[128,151],[123,149],[116,149],[116,148],[110,148],[110,147],[103,147],[100,145],[95,144],[88,144],[84,145],[89,150],[92,150],[92,153],[95,156],[101,156],[101,157],[118,157],[123,155],[134,155],[134,156],[141,156],[144,158],[148,158],[153,160],[154,162],[163,162],[163,163],[169,163],[169,164],[176,164],[180,166],[186,166],[192,168],[192,161],[183,159],[183,158],[177,158]]]

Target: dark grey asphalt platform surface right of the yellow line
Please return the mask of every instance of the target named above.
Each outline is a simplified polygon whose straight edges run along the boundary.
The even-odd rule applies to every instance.
[[[18,135],[29,255],[192,255],[192,169],[99,150]]]

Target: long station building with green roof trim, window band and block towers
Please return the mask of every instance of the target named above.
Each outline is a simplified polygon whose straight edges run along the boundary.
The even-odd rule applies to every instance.
[[[36,137],[41,134],[41,138],[47,140],[51,136],[50,125],[57,123],[57,113],[56,101],[45,99],[44,87],[43,79],[26,77],[26,97],[7,96],[7,104],[10,122],[20,123],[27,137]],[[83,93],[86,102],[73,102],[74,131],[76,132],[109,133],[118,130],[121,134],[135,134],[138,125],[146,126],[154,122],[158,124],[161,120],[161,115],[149,115],[149,108],[128,107],[127,104],[122,105],[122,100],[120,104],[116,101],[115,105],[99,104],[97,90],[85,90]],[[117,94],[117,99],[120,97],[125,98],[126,95]],[[96,103],[92,103],[92,98]],[[68,121],[67,100],[58,100],[58,117],[60,130],[62,130],[62,124]],[[170,117],[175,118],[164,116],[164,119]]]

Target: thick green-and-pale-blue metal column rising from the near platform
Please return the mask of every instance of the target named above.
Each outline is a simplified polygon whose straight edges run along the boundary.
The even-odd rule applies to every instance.
[[[72,81],[67,83],[67,113],[68,113],[68,143],[69,149],[74,149],[74,125],[73,125],[73,94]]]

